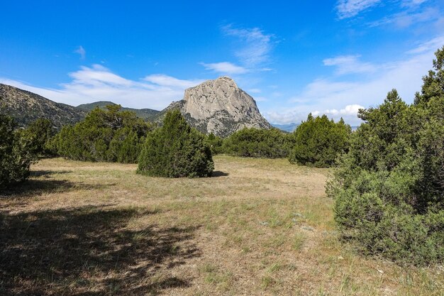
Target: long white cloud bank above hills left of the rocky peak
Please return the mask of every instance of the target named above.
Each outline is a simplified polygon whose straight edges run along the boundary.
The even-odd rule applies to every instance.
[[[179,80],[167,75],[149,75],[143,80],[128,80],[101,65],[81,67],[69,74],[72,81],[59,89],[33,87],[16,80],[0,83],[35,92],[55,102],[77,106],[96,101],[112,101],[133,108],[163,109],[170,102],[182,99],[184,89],[203,80]]]

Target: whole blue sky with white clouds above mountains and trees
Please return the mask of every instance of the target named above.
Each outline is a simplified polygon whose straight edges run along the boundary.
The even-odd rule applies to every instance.
[[[444,45],[444,0],[4,1],[0,83],[77,106],[163,109],[229,76],[274,124],[360,123],[411,103]]]

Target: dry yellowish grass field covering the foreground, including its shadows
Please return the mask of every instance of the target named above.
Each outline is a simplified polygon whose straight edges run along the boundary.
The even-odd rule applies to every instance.
[[[442,266],[338,241],[328,170],[216,156],[215,176],[60,158],[0,193],[0,295],[444,295]]]

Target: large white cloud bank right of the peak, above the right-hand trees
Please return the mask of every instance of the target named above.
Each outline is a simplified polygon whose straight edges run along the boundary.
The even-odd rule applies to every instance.
[[[422,76],[431,69],[434,53],[443,44],[444,35],[416,45],[403,59],[389,66],[375,66],[377,70],[365,80],[356,82],[335,76],[314,80],[290,99],[287,108],[267,110],[265,116],[273,123],[288,124],[305,120],[314,110],[335,120],[343,116],[349,124],[360,124],[357,109],[382,104],[387,92],[394,88],[404,101],[413,102],[415,92],[421,90]]]

